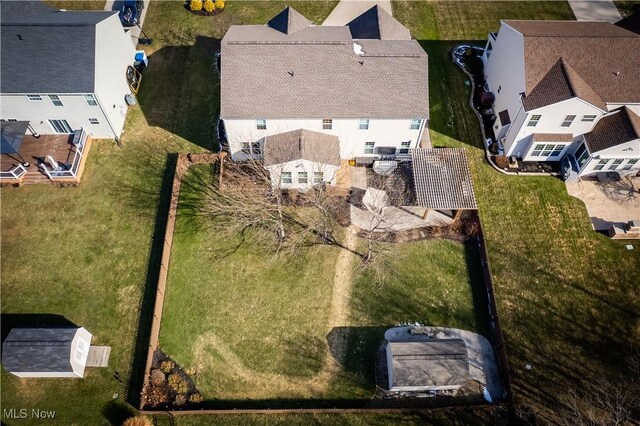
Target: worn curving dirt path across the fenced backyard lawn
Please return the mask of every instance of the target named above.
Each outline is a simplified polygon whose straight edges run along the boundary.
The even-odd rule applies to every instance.
[[[336,259],[327,334],[334,327],[348,325],[353,266],[357,261],[357,255],[351,251],[355,251],[357,240],[355,231],[347,229],[344,245],[348,250],[341,250]],[[253,389],[251,393],[255,393],[255,395],[246,395],[246,392],[242,392],[245,397],[273,396],[274,393],[282,394],[285,392],[295,392],[302,395],[318,394],[328,388],[331,379],[341,369],[340,364],[346,352],[347,335],[343,334],[341,337],[339,342],[334,342],[333,352],[328,345],[325,345],[322,368],[317,375],[310,378],[296,378],[252,370],[214,333],[206,333],[195,342],[193,346],[194,367],[200,371],[215,368],[214,357],[211,354],[211,351],[215,351],[224,359],[225,375],[235,377]],[[264,395],[265,393],[267,395]]]

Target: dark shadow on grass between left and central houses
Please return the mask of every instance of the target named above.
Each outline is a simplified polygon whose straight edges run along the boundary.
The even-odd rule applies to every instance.
[[[150,126],[205,149],[218,147],[220,40],[197,36],[193,46],[163,47],[149,56],[138,102]]]

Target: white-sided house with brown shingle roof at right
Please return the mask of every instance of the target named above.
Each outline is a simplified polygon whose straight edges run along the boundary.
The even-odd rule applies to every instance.
[[[482,59],[504,155],[579,176],[637,173],[637,52],[640,35],[610,23],[502,21]]]

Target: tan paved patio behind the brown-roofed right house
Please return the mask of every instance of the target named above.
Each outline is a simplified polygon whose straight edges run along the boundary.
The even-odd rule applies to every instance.
[[[565,182],[569,195],[585,204],[593,229],[608,230],[614,224],[640,219],[640,178],[598,182]]]

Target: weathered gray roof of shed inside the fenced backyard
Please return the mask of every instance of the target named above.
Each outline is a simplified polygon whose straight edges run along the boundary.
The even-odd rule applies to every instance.
[[[462,339],[389,342],[394,387],[463,386],[470,378]]]

